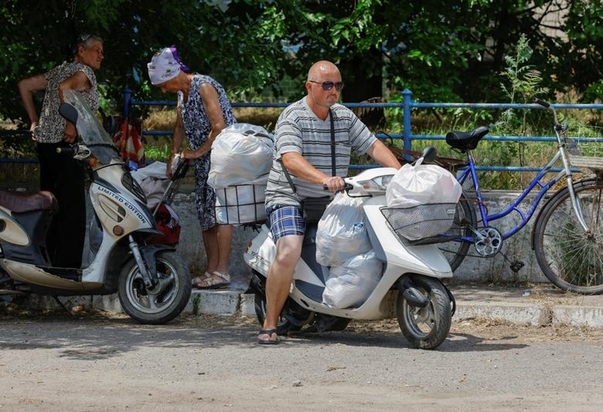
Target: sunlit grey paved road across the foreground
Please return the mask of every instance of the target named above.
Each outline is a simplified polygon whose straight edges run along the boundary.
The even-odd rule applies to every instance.
[[[0,411],[601,410],[599,329],[455,322],[436,351],[395,323],[255,344],[240,316],[0,318]]]

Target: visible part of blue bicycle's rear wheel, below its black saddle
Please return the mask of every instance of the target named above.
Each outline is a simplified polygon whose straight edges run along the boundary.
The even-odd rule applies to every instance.
[[[447,234],[452,234],[450,241],[439,243],[438,248],[444,253],[446,260],[454,272],[463,263],[471,242],[461,240],[461,236],[471,236],[471,227],[477,226],[477,217],[473,203],[463,191],[456,205],[456,214],[452,229]]]

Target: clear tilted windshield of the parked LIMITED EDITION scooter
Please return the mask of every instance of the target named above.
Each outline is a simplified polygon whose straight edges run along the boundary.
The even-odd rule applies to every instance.
[[[88,107],[84,98],[73,90],[65,90],[63,97],[78,113],[76,128],[83,143],[88,146],[94,156],[107,164],[114,157],[119,157],[119,151],[113,144],[111,136],[105,131],[94,113]]]

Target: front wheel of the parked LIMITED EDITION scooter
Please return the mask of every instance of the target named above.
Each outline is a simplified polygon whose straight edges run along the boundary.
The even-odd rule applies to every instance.
[[[124,311],[134,320],[160,325],[178,316],[191,297],[191,275],[182,257],[173,250],[155,255],[159,282],[147,289],[134,258],[124,265],[118,281],[118,295]]]

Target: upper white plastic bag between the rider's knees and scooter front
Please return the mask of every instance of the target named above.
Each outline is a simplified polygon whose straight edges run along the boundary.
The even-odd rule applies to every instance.
[[[338,266],[352,256],[371,250],[364,225],[362,204],[367,198],[335,195],[318,222],[316,261],[323,266]]]

